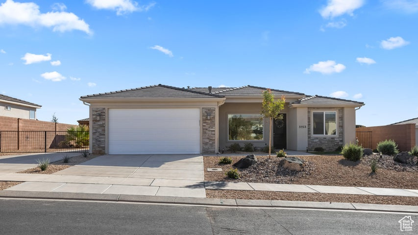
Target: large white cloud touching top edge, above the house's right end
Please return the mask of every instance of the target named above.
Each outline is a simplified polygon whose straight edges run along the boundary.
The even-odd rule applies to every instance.
[[[353,11],[362,7],[364,0],[328,0],[328,4],[320,10],[322,18],[334,18],[344,14],[353,15]]]

